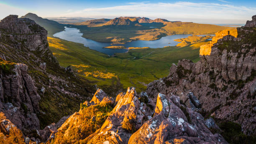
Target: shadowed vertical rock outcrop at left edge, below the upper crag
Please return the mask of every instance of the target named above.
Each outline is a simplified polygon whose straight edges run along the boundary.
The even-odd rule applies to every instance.
[[[23,131],[39,129],[40,96],[27,69],[0,58],[0,111]]]

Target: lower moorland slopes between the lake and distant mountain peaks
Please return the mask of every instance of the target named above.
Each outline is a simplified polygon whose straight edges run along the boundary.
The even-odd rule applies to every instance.
[[[158,25],[157,25],[158,24]],[[162,24],[162,25],[160,25]],[[214,34],[219,30],[235,29],[210,24],[199,23],[142,23],[143,26],[97,26],[72,25],[83,33],[84,38],[100,42],[127,42],[132,40],[156,40],[166,35],[174,34]],[[149,27],[158,28],[149,28]]]

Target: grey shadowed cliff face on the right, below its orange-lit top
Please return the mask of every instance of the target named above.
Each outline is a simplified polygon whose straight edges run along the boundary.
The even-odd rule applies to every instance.
[[[182,60],[173,64],[169,76],[149,83],[148,95],[156,98],[159,92],[175,93],[195,109],[187,95],[193,92],[204,113],[241,124],[245,134],[255,134],[256,30],[248,27],[251,23],[254,20],[237,28],[237,37],[226,35],[213,42],[210,54],[201,53],[197,63]]]

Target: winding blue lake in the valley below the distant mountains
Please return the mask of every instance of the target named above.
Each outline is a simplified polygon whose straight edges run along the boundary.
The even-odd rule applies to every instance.
[[[64,40],[82,43],[84,46],[89,47],[95,51],[99,51],[101,53],[108,54],[112,56],[114,53],[125,53],[127,49],[109,49],[103,48],[107,46],[111,46],[111,43],[102,43],[94,40],[90,40],[82,37],[82,33],[77,28],[67,28],[65,27],[64,31],[59,33],[55,33],[53,36],[58,37]],[[179,38],[187,38],[190,35],[168,35],[166,37],[162,37],[159,40],[133,40],[131,42],[123,44],[126,48],[128,47],[149,47],[149,48],[164,48],[164,46],[175,46],[179,42],[174,41]],[[120,44],[118,44],[120,45]]]

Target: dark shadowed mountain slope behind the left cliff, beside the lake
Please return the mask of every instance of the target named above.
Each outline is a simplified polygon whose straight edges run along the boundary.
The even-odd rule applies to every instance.
[[[54,35],[62,30],[64,30],[64,25],[60,24],[54,20],[48,20],[46,18],[38,17],[36,14],[28,13],[20,18],[29,18],[34,20],[38,25],[44,27],[48,31],[48,36]]]

